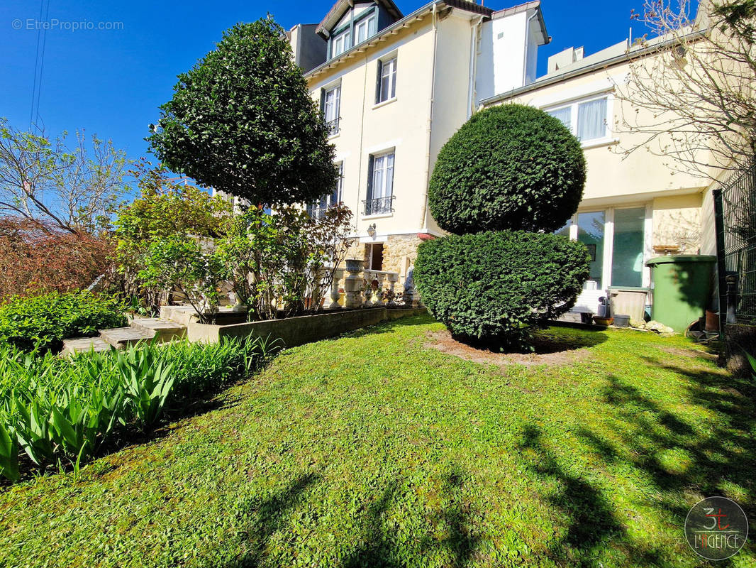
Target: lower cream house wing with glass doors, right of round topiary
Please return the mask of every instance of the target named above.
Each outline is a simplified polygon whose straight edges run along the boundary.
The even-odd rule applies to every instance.
[[[652,280],[646,261],[652,257],[667,251],[711,253],[713,248],[709,183],[693,171],[671,170],[658,155],[626,155],[646,137],[628,129],[624,119],[650,111],[631,108],[618,98],[618,88],[631,64],[658,57],[661,41],[632,46],[627,40],[588,56],[582,48],[569,48],[549,58],[545,76],[482,101],[484,108],[507,103],[541,108],[581,141],[587,161],[583,200],[559,231],[584,242],[592,259],[576,311],[595,312],[598,298],[609,289],[648,290]]]

